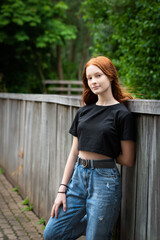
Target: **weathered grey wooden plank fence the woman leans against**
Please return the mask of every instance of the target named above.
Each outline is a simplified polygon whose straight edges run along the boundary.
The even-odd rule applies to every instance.
[[[117,240],[160,236],[160,101],[129,100],[137,115],[136,163],[122,167]],[[0,94],[0,166],[34,211],[48,219],[72,137],[77,97]]]

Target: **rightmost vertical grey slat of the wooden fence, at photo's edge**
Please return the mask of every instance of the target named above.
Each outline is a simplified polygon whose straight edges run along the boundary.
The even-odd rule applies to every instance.
[[[160,235],[160,119],[152,117],[150,161],[149,161],[149,185],[148,185],[148,239],[158,240]]]

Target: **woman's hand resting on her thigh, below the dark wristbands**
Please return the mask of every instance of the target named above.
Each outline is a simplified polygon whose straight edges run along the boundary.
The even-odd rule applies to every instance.
[[[58,217],[58,209],[60,205],[63,205],[63,211],[66,212],[66,194],[64,193],[58,193],[57,197],[55,199],[55,202],[52,207],[51,211],[51,217],[53,218],[54,216],[57,218]]]

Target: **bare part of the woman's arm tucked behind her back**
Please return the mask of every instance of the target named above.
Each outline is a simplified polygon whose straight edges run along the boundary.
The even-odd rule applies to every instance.
[[[117,157],[117,163],[132,167],[135,160],[135,142],[131,140],[121,141],[121,154]]]

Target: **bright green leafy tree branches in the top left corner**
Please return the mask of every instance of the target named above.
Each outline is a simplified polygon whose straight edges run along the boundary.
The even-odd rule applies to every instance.
[[[29,47],[32,42],[40,48],[51,43],[63,45],[64,39],[76,37],[75,27],[64,22],[67,9],[64,2],[54,5],[48,0],[6,0],[0,11],[0,41],[4,42],[10,37],[8,44],[11,45],[16,42],[28,42]]]

